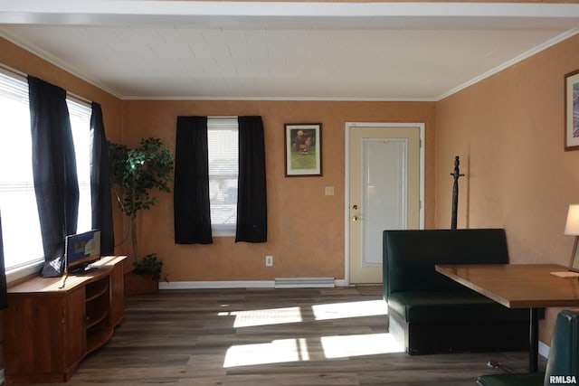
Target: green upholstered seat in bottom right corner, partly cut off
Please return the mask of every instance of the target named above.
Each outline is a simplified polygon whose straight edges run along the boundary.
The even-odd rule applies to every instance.
[[[546,386],[579,384],[579,313],[557,314],[545,372],[481,375],[479,386]]]

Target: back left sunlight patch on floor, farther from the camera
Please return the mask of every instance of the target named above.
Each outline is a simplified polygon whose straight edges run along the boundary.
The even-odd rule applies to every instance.
[[[249,311],[220,312],[220,316],[235,316],[233,327],[253,327],[256,325],[282,325],[302,321],[299,307],[257,309]]]

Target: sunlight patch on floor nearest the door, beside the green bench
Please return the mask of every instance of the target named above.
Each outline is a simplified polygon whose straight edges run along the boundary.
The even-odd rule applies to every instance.
[[[344,319],[373,315],[387,315],[388,306],[383,299],[363,302],[332,303],[311,306],[316,320]]]

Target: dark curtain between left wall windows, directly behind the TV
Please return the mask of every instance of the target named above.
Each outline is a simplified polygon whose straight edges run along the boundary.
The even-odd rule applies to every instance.
[[[75,233],[79,184],[66,91],[28,77],[33,179],[44,259],[62,257],[64,237]]]

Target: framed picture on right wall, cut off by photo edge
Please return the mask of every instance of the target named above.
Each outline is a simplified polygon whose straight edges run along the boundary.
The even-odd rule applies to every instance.
[[[579,150],[579,70],[565,74],[565,151]]]

